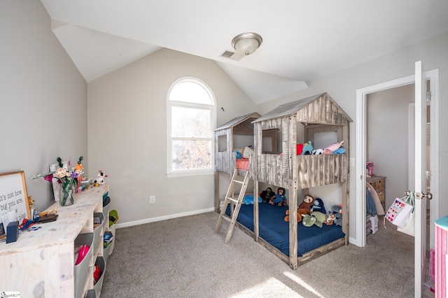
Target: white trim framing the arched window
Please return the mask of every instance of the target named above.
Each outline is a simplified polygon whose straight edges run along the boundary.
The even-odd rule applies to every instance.
[[[205,90],[210,94],[210,98],[213,104],[209,106],[210,113],[210,122],[211,122],[211,168],[210,169],[190,169],[190,170],[181,170],[181,171],[173,171],[172,170],[172,114],[171,114],[171,108],[173,106],[172,103],[174,103],[174,106],[186,106],[189,108],[194,108],[197,106],[197,108],[204,108],[207,109],[206,104],[195,104],[195,103],[188,103],[185,101],[171,101],[169,100],[169,94],[171,94],[173,88],[183,82],[183,81],[194,81],[195,83],[202,85]],[[212,175],[215,172],[215,142],[214,142],[214,130],[216,128],[216,99],[214,92],[211,90],[209,85],[204,83],[204,81],[200,80],[199,78],[195,77],[182,77],[175,80],[171,86],[169,86],[169,90],[167,92],[167,177],[181,177],[181,176],[200,176],[200,175]]]

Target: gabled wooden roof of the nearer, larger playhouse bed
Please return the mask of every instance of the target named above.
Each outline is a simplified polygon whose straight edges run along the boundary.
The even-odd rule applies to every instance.
[[[325,92],[278,106],[254,120],[253,123],[294,114],[296,114],[298,122],[310,124],[348,125],[349,122],[353,122],[349,115]]]

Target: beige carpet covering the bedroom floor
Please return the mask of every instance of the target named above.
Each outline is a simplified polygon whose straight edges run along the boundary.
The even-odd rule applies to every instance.
[[[414,297],[414,239],[379,225],[293,271],[217,213],[116,230],[101,297]],[[424,290],[423,297],[434,297]]]

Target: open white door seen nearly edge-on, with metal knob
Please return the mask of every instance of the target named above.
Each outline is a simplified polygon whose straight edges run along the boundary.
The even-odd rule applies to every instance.
[[[421,297],[426,275],[426,78],[415,62],[415,242],[414,296]]]

